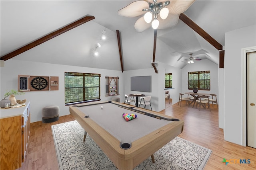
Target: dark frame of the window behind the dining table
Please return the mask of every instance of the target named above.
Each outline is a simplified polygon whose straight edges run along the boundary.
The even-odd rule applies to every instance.
[[[197,79],[190,79],[190,74],[197,74]],[[200,74],[209,74],[209,79],[204,78],[204,79],[200,79]],[[193,90],[194,88],[198,88],[198,90],[211,90],[211,78],[210,78],[211,74],[210,74],[210,70],[208,71],[192,71],[192,72],[188,72],[188,90]],[[196,82],[192,83],[192,82]],[[200,88],[200,82],[204,81],[204,86],[209,86],[209,88]],[[207,83],[208,82],[208,83]],[[202,83],[201,83],[202,84]]]

